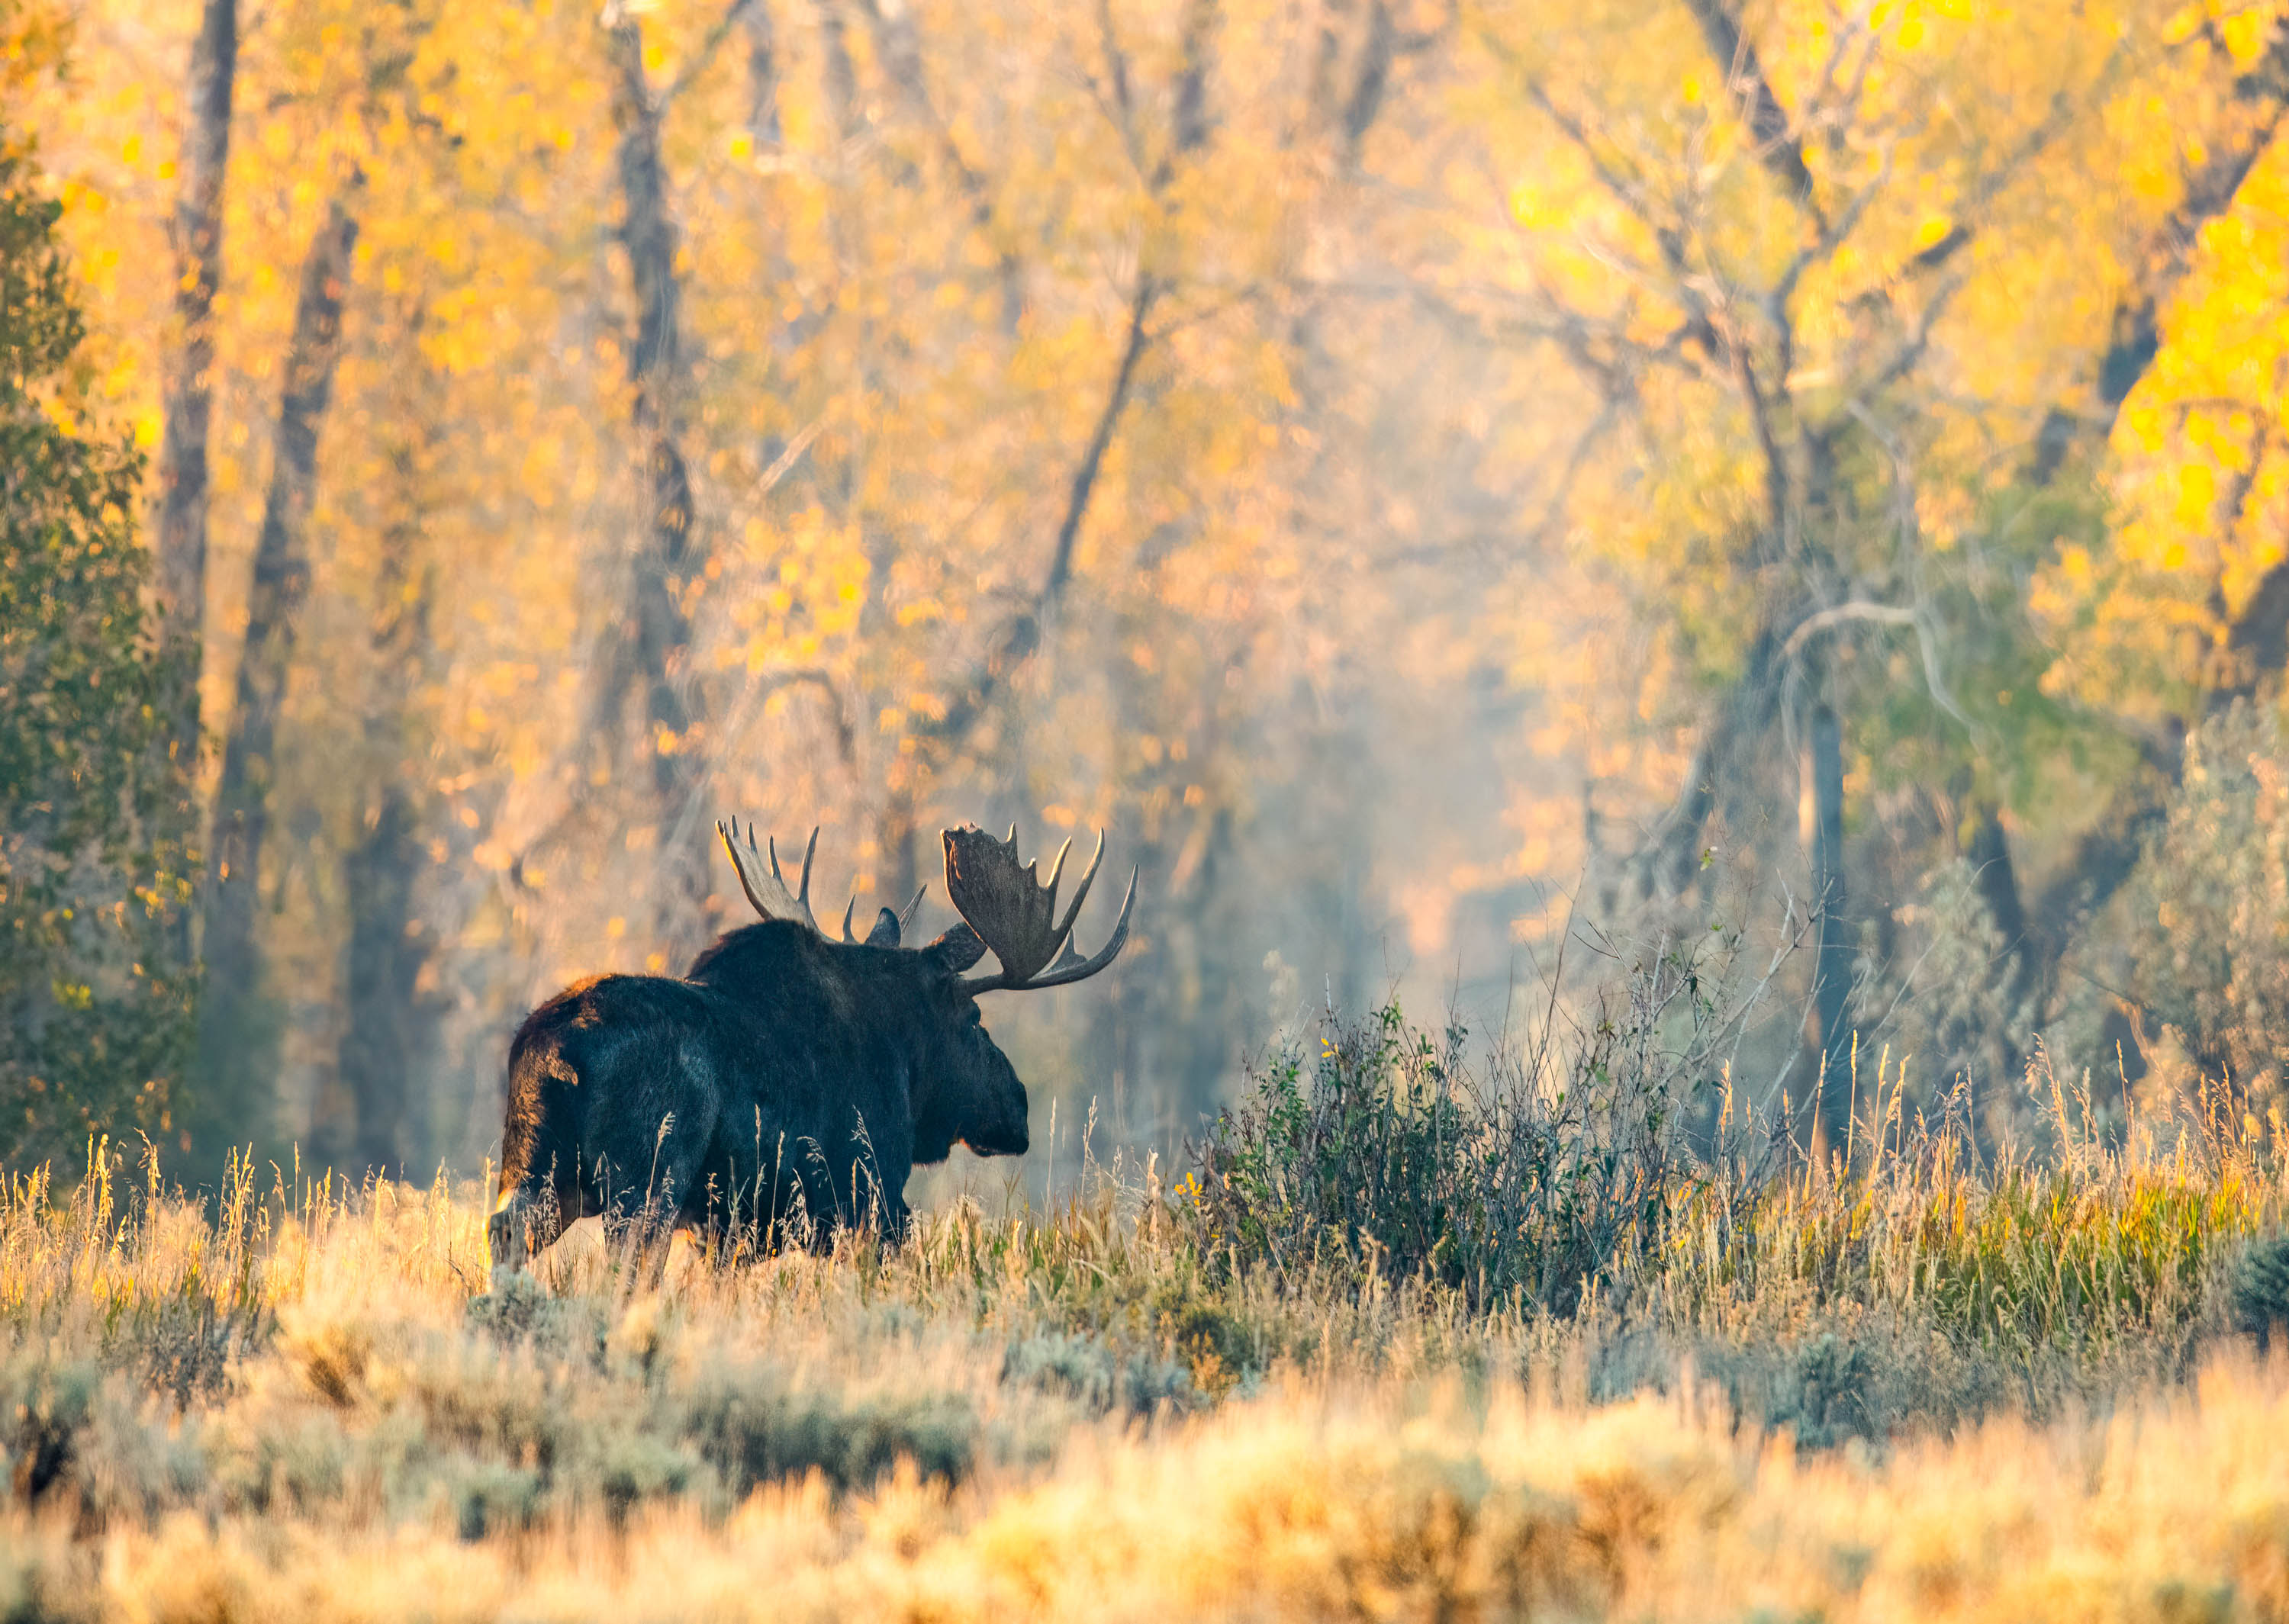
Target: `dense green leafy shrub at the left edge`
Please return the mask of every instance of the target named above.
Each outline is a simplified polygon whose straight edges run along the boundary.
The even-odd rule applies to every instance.
[[[0,135],[0,1155],[176,1128],[190,1045],[185,650],[153,645],[140,457],[66,425],[80,311],[41,197]]]

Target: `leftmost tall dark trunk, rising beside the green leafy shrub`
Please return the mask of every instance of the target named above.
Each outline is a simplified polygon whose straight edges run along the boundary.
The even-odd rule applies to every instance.
[[[172,643],[199,647],[206,620],[206,430],[213,416],[215,288],[222,284],[222,181],[231,156],[238,78],[238,0],[206,0],[190,53],[183,194],[174,206],[176,350],[160,384],[158,599]],[[199,668],[176,702],[174,746],[199,750]]]

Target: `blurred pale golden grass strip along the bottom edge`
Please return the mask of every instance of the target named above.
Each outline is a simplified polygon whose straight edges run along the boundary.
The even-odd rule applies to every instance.
[[[2289,1370],[2223,1361],[2106,1423],[1882,1464],[1719,1411],[1291,1391],[1041,1478],[776,1484],[462,1539],[442,1519],[179,1512],[89,1544],[11,1514],[39,1613],[149,1619],[2282,1617]],[[21,1613],[18,1613],[21,1615]]]

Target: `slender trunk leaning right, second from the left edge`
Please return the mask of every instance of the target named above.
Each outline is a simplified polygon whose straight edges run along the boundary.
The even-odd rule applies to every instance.
[[[355,197],[355,188],[353,188]],[[247,640],[238,659],[238,704],[222,750],[215,833],[206,871],[206,1009],[199,1022],[201,1077],[215,1086],[238,1077],[259,1100],[263,1068],[233,1054],[259,1011],[261,956],[254,915],[261,892],[263,837],[270,828],[270,782],[277,723],[286,700],[295,615],[309,590],[309,510],[318,487],[318,425],[341,359],[341,300],[357,245],[353,197],[336,197],[302,265],[286,389],[279,396],[277,451],[254,547],[247,592]],[[233,1128],[233,1135],[238,1128]]]

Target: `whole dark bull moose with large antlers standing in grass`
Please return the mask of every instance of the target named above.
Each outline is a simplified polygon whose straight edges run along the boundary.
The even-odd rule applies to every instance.
[[[913,1164],[957,1144],[1025,1153],[1025,1084],[977,997],[1083,981],[1128,940],[1135,871],[1106,947],[1074,947],[1103,835],[1060,920],[1071,839],[1044,883],[1032,862],[1019,867],[1014,826],[1007,839],[945,830],[945,892],[964,922],[906,947],[922,892],[904,913],[884,908],[865,940],[845,908],[838,942],[810,913],[817,830],[794,890],[778,844],[755,849],[753,823],[744,842],[737,819],[716,833],[760,924],[721,936],[682,979],[579,981],[517,1029],[488,1226],[497,1269],[588,1215],[778,1235],[801,1210],[815,1242],[868,1221],[902,1237]],[[987,949],[1000,970],[968,974]]]

